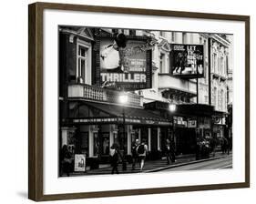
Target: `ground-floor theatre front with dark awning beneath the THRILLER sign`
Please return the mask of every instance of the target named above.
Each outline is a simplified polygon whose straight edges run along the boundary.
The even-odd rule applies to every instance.
[[[87,161],[97,158],[108,163],[114,143],[129,161],[132,143],[138,139],[148,144],[148,158],[157,159],[171,126],[169,119],[144,108],[73,100],[61,145],[73,147],[75,154],[85,154]]]

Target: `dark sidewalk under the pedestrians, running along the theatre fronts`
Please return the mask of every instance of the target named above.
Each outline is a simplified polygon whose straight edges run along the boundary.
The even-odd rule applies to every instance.
[[[230,153],[231,154],[231,153]],[[179,155],[176,157],[176,161],[171,164],[167,164],[166,158],[161,158],[159,160],[147,160],[145,161],[144,168],[142,172],[148,173],[148,172],[157,172],[159,170],[163,170],[166,168],[174,168],[179,166],[184,166],[191,163],[198,163],[203,162],[207,160],[213,160],[218,158],[226,157],[227,154],[222,154],[221,152],[216,152],[215,157],[210,154],[210,158],[203,158],[200,160],[196,160],[195,154],[189,154],[189,155]],[[122,169],[122,164],[118,165],[118,171],[119,174],[129,174],[129,173],[139,173],[141,172],[139,170],[139,163],[136,163],[135,170],[132,170],[132,164],[127,164],[127,170]],[[102,175],[102,174],[111,174],[111,166],[109,164],[107,165],[100,165],[97,169],[87,169],[86,172],[74,172],[70,173],[70,176],[83,176],[83,175]]]

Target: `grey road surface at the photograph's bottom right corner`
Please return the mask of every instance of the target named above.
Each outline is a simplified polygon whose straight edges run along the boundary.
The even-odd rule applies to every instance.
[[[218,158],[210,161],[203,161],[195,164],[188,164],[177,168],[168,168],[162,171],[199,170],[199,169],[221,169],[232,168],[232,155],[225,158]]]

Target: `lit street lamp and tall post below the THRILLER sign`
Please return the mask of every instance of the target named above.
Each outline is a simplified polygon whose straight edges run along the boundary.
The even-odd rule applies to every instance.
[[[120,104],[122,104],[123,106],[123,137],[122,137],[122,141],[121,141],[121,146],[122,146],[122,150],[123,150],[123,155],[122,155],[122,166],[123,166],[123,170],[127,169],[127,165],[126,165],[126,159],[125,159],[125,149],[124,149],[124,142],[125,142],[125,136],[126,136],[126,115],[125,115],[125,106],[128,103],[128,95],[126,93],[122,93],[119,96],[119,102]]]

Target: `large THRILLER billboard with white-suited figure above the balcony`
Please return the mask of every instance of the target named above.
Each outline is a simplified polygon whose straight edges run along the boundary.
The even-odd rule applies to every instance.
[[[146,41],[100,37],[99,70],[101,87],[143,89],[151,87],[151,57]]]

